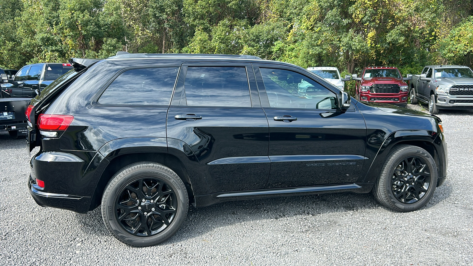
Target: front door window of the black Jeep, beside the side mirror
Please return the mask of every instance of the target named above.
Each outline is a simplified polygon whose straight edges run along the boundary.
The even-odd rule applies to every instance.
[[[335,93],[294,71],[261,68],[270,107],[336,109]]]

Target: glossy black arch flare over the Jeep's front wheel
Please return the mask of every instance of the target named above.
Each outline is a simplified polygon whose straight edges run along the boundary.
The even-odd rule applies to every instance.
[[[434,150],[437,148],[432,144],[437,137],[437,133],[429,130],[400,130],[389,134],[379,146],[379,149],[368,168],[366,176],[362,182],[373,183],[376,182],[381,168],[383,167],[386,157],[393,147],[397,144],[410,144],[417,146],[432,145]],[[371,143],[373,144],[373,143]],[[376,144],[376,143],[374,143]],[[368,145],[370,145],[368,140]]]

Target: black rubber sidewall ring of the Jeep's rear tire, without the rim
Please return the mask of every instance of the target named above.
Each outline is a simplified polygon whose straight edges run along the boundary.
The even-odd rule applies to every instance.
[[[177,212],[174,220],[164,231],[150,237],[134,236],[126,232],[115,215],[115,202],[122,190],[125,186],[141,177],[153,177],[164,181],[174,190],[177,198]],[[107,193],[104,193],[104,197],[102,198],[102,216],[104,222],[108,225],[108,229],[114,234],[114,237],[132,246],[156,245],[170,238],[181,226],[188,208],[188,199],[184,191],[185,187],[181,186],[179,181],[180,180],[176,180],[175,177],[166,171],[155,168],[141,168],[131,172],[122,171],[114,177],[106,188]]]

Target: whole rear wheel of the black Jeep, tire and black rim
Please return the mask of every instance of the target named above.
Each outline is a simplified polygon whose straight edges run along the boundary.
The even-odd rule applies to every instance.
[[[122,168],[102,197],[102,218],[108,231],[133,247],[154,246],[172,237],[188,208],[189,196],[181,178],[155,162]]]

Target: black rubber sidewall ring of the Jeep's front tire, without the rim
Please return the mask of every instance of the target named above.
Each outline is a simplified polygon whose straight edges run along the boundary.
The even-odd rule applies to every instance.
[[[394,168],[404,159],[408,157],[416,156],[419,157],[420,159],[424,160],[429,167],[430,170],[430,184],[429,188],[427,189],[426,194],[417,202],[412,203],[412,204],[404,204],[401,203],[400,201],[397,200],[397,198],[394,196],[391,180],[392,180],[392,175],[394,172]],[[420,208],[422,208],[427,202],[429,202],[430,198],[434,194],[435,187],[437,186],[437,168],[435,166],[435,161],[433,158],[430,156],[429,153],[426,153],[425,151],[421,151],[418,149],[410,149],[410,150],[405,150],[398,156],[396,156],[396,159],[394,159],[393,163],[391,163],[386,171],[386,174],[388,176],[385,177],[385,188],[387,192],[387,196],[389,201],[401,212],[410,212],[410,211],[415,211]]]

